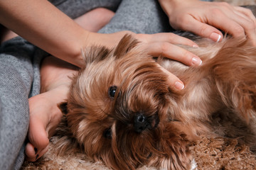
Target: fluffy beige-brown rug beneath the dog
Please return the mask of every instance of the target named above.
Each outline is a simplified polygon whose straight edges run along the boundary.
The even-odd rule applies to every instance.
[[[224,1],[224,0],[215,0]],[[233,5],[255,5],[255,0],[225,0]],[[85,154],[67,153],[65,157],[57,157],[54,143],[57,137],[52,137],[48,152],[37,162],[24,162],[21,169],[94,169],[107,170],[101,162],[91,162]],[[191,144],[191,152],[195,159],[195,169],[228,170],[228,169],[256,169],[256,159],[249,148],[238,145],[237,140],[224,138],[208,139],[202,137],[196,143]],[[153,170],[153,167],[143,166],[139,170]]]

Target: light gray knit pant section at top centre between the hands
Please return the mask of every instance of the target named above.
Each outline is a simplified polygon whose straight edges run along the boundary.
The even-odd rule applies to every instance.
[[[134,33],[170,32],[169,19],[157,0],[123,0],[114,17],[100,33],[131,30]]]

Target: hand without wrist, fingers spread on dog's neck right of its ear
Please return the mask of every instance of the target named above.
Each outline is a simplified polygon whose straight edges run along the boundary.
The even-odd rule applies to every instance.
[[[178,62],[182,62],[188,66],[198,66],[202,63],[201,59],[192,52],[179,47],[178,45],[188,45],[198,47],[195,42],[187,38],[183,38],[174,33],[156,33],[152,35],[137,34],[136,38],[142,41],[149,55],[154,57],[167,57]],[[183,82],[174,74],[161,67],[166,74],[169,75],[169,84],[171,88],[181,90],[184,88]]]

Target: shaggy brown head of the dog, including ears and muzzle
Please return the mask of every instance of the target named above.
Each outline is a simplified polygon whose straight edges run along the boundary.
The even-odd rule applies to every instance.
[[[167,76],[138,44],[126,35],[113,50],[84,51],[63,103],[68,126],[89,157],[112,169],[188,169],[186,137],[167,114]]]

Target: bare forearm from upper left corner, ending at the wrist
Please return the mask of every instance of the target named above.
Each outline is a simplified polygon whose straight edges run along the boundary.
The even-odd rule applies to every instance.
[[[51,55],[79,66],[80,46],[89,32],[50,2],[0,1],[0,23]]]

